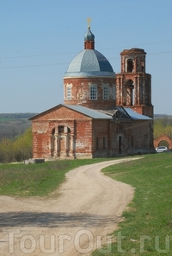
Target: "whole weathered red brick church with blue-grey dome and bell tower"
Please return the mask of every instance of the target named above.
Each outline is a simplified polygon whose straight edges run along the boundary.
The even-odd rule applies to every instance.
[[[30,118],[33,158],[120,157],[151,152],[153,106],[151,74],[145,73],[144,49],[120,53],[115,74],[95,50],[90,27],[84,49],[64,74],[64,103]]]

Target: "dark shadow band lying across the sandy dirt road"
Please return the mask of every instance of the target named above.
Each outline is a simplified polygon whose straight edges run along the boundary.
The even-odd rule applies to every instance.
[[[1,213],[0,227],[106,227],[118,221],[115,216],[81,213]]]

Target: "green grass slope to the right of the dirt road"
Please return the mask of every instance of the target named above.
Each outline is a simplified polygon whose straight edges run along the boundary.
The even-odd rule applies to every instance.
[[[112,248],[93,255],[172,255],[172,154],[145,155],[103,172],[131,184],[135,195],[113,234]]]

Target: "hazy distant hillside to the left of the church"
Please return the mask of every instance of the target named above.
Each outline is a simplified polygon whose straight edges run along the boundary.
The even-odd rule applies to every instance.
[[[2,138],[16,138],[31,126],[28,118],[37,113],[0,113],[0,140]]]

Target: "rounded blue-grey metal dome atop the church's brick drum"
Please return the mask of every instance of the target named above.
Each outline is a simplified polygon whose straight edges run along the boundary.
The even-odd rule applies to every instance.
[[[84,49],[71,61],[65,76],[112,76],[113,67],[100,52],[95,49]]]

